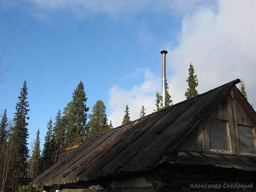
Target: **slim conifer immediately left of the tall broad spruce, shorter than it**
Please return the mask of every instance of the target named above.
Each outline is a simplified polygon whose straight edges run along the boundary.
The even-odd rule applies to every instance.
[[[55,138],[56,150],[60,150],[65,146],[65,135],[66,135],[63,119],[61,119],[60,109],[58,110],[57,115],[55,117],[54,127],[53,127],[53,130],[51,130],[51,132],[53,132],[52,133],[53,138]]]

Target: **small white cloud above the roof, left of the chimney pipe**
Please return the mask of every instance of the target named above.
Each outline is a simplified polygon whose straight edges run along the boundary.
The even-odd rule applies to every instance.
[[[138,69],[130,78],[139,76],[143,76],[143,82],[135,84],[131,90],[113,86],[109,91],[108,119],[112,121],[114,127],[122,123],[126,104],[129,106],[132,120],[139,118],[142,105],[145,106],[146,114],[152,113],[155,109],[155,92],[159,87],[159,78],[149,69]]]

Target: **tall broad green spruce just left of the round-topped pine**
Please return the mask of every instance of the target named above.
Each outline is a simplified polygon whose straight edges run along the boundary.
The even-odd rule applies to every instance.
[[[63,114],[67,126],[67,146],[83,142],[89,132],[87,125],[87,97],[82,81],[73,93],[73,100],[67,104]]]

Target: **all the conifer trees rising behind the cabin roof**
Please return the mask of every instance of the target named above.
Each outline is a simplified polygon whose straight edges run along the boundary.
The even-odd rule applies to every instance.
[[[197,75],[193,65],[190,63],[188,88],[185,92],[186,99],[198,95]],[[247,98],[245,84],[241,83],[241,92]],[[40,131],[36,132],[31,153],[29,153],[27,139],[29,103],[27,82],[18,96],[13,119],[7,117],[7,109],[4,110],[0,124],[0,192],[17,191],[17,178],[35,178],[45,172],[55,162],[65,157],[69,151],[63,150],[67,147],[77,146],[86,141],[90,136],[113,129],[112,122],[108,123],[106,106],[102,100],[97,100],[93,105],[91,113],[87,106],[87,96],[82,81],[72,94],[72,100],[62,110],[59,109],[54,120],[50,117],[47,123],[47,133],[44,145],[40,149]],[[162,110],[162,96],[156,91],[154,112]],[[166,82],[166,106],[173,105]],[[145,116],[145,107],[141,107],[140,117]],[[122,124],[131,122],[129,106],[126,104]],[[58,153],[59,151],[64,153]]]

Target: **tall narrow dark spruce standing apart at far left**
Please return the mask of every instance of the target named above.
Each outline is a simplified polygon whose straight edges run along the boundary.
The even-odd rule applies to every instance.
[[[20,96],[18,96],[18,103],[16,103],[16,112],[14,113],[14,127],[12,130],[13,140],[15,141],[15,158],[14,158],[14,168],[16,170],[15,177],[25,176],[27,168],[27,158],[29,157],[28,150],[28,128],[29,123],[27,120],[29,112],[29,104],[27,101],[28,88],[27,82],[24,81],[23,88],[20,91]]]

